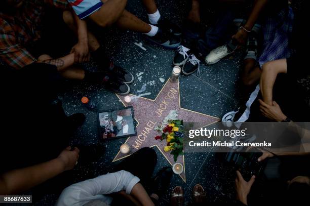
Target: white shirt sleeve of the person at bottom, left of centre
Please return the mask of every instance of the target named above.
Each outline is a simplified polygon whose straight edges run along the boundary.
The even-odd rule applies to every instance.
[[[138,177],[124,170],[102,175],[65,188],[56,205],[79,205],[79,202],[86,203],[94,200],[93,197],[97,195],[111,194],[122,190],[130,194],[132,188],[139,181]]]

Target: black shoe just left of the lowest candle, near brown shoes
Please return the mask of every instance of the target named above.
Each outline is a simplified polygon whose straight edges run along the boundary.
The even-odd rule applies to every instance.
[[[164,191],[168,191],[172,175],[171,167],[165,167],[160,170],[154,178],[152,193],[162,196]]]

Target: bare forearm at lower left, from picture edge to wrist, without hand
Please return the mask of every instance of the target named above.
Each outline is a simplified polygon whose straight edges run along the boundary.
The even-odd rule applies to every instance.
[[[31,167],[13,170],[0,177],[0,194],[18,194],[53,178],[64,171],[59,158]]]

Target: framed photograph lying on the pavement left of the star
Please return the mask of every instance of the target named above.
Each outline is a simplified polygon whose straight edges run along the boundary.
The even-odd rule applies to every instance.
[[[98,124],[100,138],[103,140],[137,135],[133,107],[100,111]]]

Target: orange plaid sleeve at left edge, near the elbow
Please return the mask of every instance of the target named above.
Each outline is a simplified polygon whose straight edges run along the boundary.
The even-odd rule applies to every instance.
[[[36,61],[36,59],[16,42],[15,34],[7,23],[0,29],[0,57],[13,68],[20,69]]]

